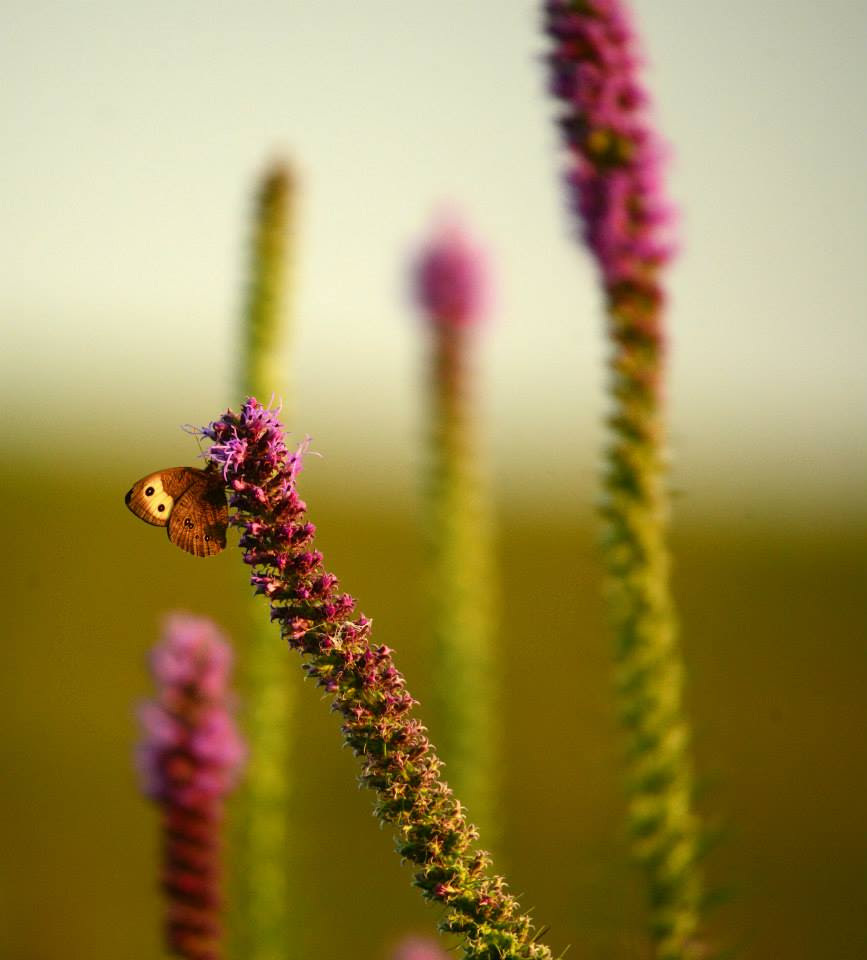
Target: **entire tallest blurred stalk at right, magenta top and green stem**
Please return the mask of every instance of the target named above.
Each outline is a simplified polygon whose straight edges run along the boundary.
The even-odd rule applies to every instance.
[[[552,92],[566,104],[568,191],[602,276],[613,346],[602,512],[633,851],[649,885],[656,957],[683,960],[702,955],[702,882],[664,484],[660,272],[673,252],[673,218],[625,4],[548,0],[545,12]]]

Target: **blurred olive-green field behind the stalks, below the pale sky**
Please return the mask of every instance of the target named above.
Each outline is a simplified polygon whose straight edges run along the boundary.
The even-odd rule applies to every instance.
[[[311,459],[303,477],[320,545],[377,639],[395,648],[436,740],[415,518],[371,489],[335,495],[329,466]],[[136,790],[133,708],[148,693],[161,612],[208,613],[237,636],[246,572],[234,549],[200,561],[137,522],[122,504],[130,477],[117,465],[54,476],[19,468],[7,496],[3,957],[161,955],[157,819]],[[509,500],[498,514],[497,866],[551,924],[555,953],[571,944],[570,955],[588,960],[643,956],[592,518]],[[854,521],[758,514],[676,526],[701,806],[721,830],[707,866],[712,886],[732,896],[713,929],[745,957],[856,960],[867,948],[864,542],[855,533]],[[336,718],[300,669],[295,680],[303,943],[294,955],[385,958],[401,934],[432,930],[435,911],[370,815]]]

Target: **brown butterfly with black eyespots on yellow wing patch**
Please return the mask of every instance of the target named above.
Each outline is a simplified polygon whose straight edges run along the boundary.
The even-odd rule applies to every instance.
[[[172,467],[148,474],[125,497],[145,523],[168,527],[169,540],[197,557],[212,557],[226,546],[229,508],[219,473]]]

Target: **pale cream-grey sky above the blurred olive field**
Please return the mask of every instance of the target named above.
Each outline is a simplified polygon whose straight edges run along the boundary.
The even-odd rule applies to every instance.
[[[680,480],[867,489],[867,4],[633,7],[682,211]],[[497,277],[480,358],[496,470],[528,497],[576,464],[592,479],[602,316],[560,189],[539,19],[523,0],[3,0],[0,375],[16,449],[130,459],[165,443],[174,460],[179,423],[237,401],[249,200],[284,151],[303,186],[296,425],[333,469],[415,469],[406,265],[448,204]]]

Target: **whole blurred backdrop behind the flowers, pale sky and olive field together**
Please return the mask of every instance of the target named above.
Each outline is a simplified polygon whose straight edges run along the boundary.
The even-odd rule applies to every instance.
[[[707,869],[730,894],[713,932],[749,960],[860,960],[867,10],[634,6],[683,211],[673,546],[701,804],[720,833]],[[496,863],[555,953],[642,957],[593,516],[601,311],[559,190],[536,5],[7,2],[0,18],[0,957],[161,956],[156,817],[131,762],[146,651],[174,609],[237,635],[246,571],[234,550],[173,549],[122,497],[195,462],[178,425],[239,400],[247,216],[271,150],[302,184],[288,408],[323,454],[302,492],[435,741],[406,267],[443,203],[490,250]],[[297,683],[295,956],[384,960],[435,913],[335,719]]]

